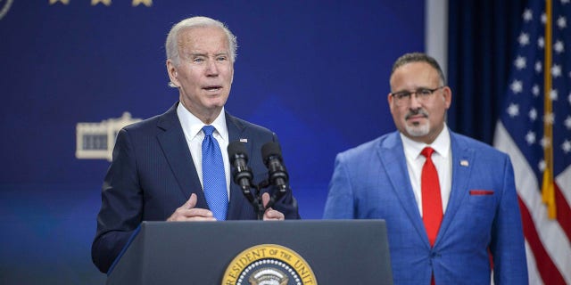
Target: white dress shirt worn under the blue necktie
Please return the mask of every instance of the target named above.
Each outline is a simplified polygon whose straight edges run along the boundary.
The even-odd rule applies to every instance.
[[[203,185],[203,126],[206,126],[200,118],[196,118],[191,112],[186,110],[182,102],[178,104],[177,107],[178,120],[182,126],[182,130],[185,133],[186,143],[188,143],[188,149],[190,154],[193,156],[194,167],[196,167],[196,173],[200,179],[200,183]],[[212,122],[211,126],[216,128],[216,131],[212,133],[216,141],[220,146],[220,151],[222,152],[222,160],[224,160],[224,174],[226,175],[226,190],[228,191],[228,199],[230,199],[230,160],[228,159],[228,128],[226,126],[226,115],[224,113],[224,108],[220,111],[219,116]]]

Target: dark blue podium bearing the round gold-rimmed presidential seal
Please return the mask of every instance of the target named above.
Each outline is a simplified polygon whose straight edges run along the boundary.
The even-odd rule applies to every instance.
[[[107,284],[250,285],[256,269],[286,284],[393,284],[384,220],[143,222]]]

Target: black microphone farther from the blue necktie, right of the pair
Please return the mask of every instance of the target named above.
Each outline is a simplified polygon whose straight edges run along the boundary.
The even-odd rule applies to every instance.
[[[287,181],[289,175],[285,170],[285,166],[282,163],[282,151],[277,142],[268,142],[261,147],[261,158],[264,161],[266,167],[268,167],[269,182],[277,187],[279,194],[285,193],[287,190]],[[274,199],[274,197],[272,197]],[[276,197],[275,199],[278,199]]]

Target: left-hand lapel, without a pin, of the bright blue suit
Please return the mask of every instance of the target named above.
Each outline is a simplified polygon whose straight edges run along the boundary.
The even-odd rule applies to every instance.
[[[425,226],[420,213],[418,213],[418,205],[410,185],[409,171],[399,133],[390,134],[377,149],[377,154],[389,181],[393,185],[394,194],[401,201],[402,208],[404,208],[418,234],[423,240],[426,240],[426,245],[429,246]]]

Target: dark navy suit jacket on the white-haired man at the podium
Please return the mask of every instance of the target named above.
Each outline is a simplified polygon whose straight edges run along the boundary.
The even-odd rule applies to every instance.
[[[107,272],[113,260],[142,221],[164,221],[182,206],[192,193],[196,208],[208,208],[196,173],[175,104],[166,113],[120,130],[113,161],[105,176],[102,206],[97,216],[97,232],[91,248],[95,265]],[[254,183],[267,178],[261,146],[277,142],[276,134],[226,113],[229,141],[247,139],[248,165]],[[222,150],[226,151],[226,150]],[[228,220],[256,219],[256,212],[240,187],[230,183]],[[286,219],[300,218],[291,193],[273,208]]]

